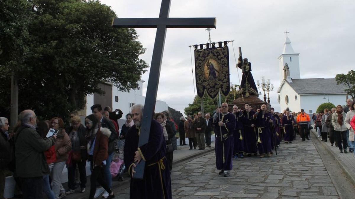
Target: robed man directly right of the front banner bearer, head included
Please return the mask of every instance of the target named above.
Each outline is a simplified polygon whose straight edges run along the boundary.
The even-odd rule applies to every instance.
[[[243,113],[238,109],[237,106],[233,106],[233,114],[235,116],[235,129],[233,130],[234,137],[234,150],[233,158],[243,158],[244,157],[244,142],[243,142],[243,123],[241,118]]]

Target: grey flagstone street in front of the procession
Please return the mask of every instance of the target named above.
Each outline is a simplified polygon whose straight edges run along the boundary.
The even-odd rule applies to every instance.
[[[173,198],[339,198],[312,141],[282,144],[271,158],[233,160],[233,168],[231,176],[218,176],[214,152],[177,166]],[[129,187],[115,191],[129,198]]]

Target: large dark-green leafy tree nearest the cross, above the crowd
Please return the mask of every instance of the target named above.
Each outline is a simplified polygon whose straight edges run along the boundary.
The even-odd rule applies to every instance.
[[[92,0],[30,2],[34,19],[30,53],[19,75],[20,110],[66,117],[85,106],[86,95],[103,93],[100,82],[110,81],[121,91],[138,88],[148,67],[139,58],[145,49],[134,29],[111,26],[117,16],[109,6]],[[1,102],[8,106],[9,98]]]

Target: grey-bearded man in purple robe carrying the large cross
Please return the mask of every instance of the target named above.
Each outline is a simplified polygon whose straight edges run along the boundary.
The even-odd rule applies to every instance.
[[[138,147],[143,105],[132,106],[132,115],[135,125],[130,127],[126,134],[124,147],[124,163],[131,176],[130,198],[171,199],[171,181],[168,160],[165,157],[166,144],[162,126],[152,120],[148,143]],[[146,161],[144,179],[133,178],[135,167],[141,160]]]

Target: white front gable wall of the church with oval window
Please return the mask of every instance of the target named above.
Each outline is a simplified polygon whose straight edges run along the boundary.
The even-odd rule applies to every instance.
[[[286,96],[289,98],[288,104],[286,104]],[[297,100],[295,96],[297,96]],[[289,108],[291,111],[300,110],[299,98],[295,90],[288,83],[285,83],[280,91],[280,112],[283,112],[286,108]]]

